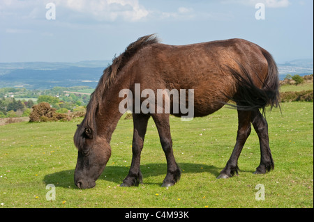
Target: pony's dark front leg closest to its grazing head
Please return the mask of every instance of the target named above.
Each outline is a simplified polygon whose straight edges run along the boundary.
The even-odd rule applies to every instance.
[[[133,113],[133,143],[132,143],[132,164],[130,171],[120,187],[138,186],[142,183],[142,173],[140,171],[140,158],[143,149],[144,137],[147,130],[148,115]]]

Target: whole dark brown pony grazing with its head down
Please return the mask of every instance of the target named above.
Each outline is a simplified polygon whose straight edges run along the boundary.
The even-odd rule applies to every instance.
[[[241,39],[174,46],[160,44],[155,35],[147,35],[131,43],[103,71],[86,116],[77,125],[74,136],[78,149],[74,176],[77,187],[86,189],[96,185],[111,155],[112,132],[123,114],[119,112],[119,104],[124,97],[119,97],[119,92],[128,89],[134,95],[135,84],[140,84],[141,90],[148,88],[155,93],[158,89],[193,89],[194,117],[214,113],[229,100],[235,102],[232,106],[238,111],[237,143],[218,178],[238,173],[237,161],[251,133],[251,124],[260,139],[261,159],[255,173],[267,173],[274,168],[267,121],[260,113],[268,105],[271,108],[279,105],[278,70],[269,52]],[[141,102],[145,99],[142,97]],[[173,114],[181,116],[181,112]],[[170,114],[135,113],[133,109],[133,157],[123,187],[142,182],[140,154],[150,116],[167,159],[163,187],[174,185],[180,178],[172,150]]]

